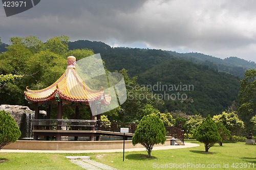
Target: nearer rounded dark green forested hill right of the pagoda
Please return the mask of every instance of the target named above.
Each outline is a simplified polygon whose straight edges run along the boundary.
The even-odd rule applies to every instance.
[[[218,114],[232,101],[237,101],[240,87],[239,79],[232,75],[176,58],[139,74],[138,80],[140,84],[151,85],[149,87],[162,94],[160,96],[165,100],[168,96],[171,98],[165,101],[168,111],[182,109],[180,100],[183,95],[194,100],[189,104],[188,112],[203,116]]]

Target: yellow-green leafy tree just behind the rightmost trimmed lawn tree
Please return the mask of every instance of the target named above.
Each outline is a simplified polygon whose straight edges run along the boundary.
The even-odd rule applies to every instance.
[[[222,114],[215,115],[212,119],[214,122],[221,122],[230,131],[231,135],[241,135],[244,131],[244,122],[239,119],[236,111],[222,112]]]

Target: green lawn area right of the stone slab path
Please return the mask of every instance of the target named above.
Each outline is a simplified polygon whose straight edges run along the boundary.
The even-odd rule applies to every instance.
[[[197,141],[190,141],[199,143]],[[213,154],[205,154],[203,143],[200,147],[177,150],[152,151],[153,159],[146,158],[147,152],[126,152],[124,162],[122,153],[95,153],[93,160],[118,169],[256,169],[256,145],[245,142],[223,143],[209,149]],[[253,168],[254,163],[254,168]],[[189,165],[190,166],[183,166]],[[193,166],[194,164],[194,166]],[[228,164],[228,165],[227,165]],[[201,165],[201,166],[200,166]],[[210,168],[207,168],[207,166]],[[228,168],[224,168],[223,166]],[[233,167],[232,167],[233,165]],[[250,167],[249,167],[250,165]],[[177,168],[180,166],[182,168]],[[203,168],[205,166],[205,168]]]

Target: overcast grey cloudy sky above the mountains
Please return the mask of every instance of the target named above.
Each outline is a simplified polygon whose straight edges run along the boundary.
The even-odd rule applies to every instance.
[[[6,17],[0,7],[0,37],[67,35],[111,46],[236,56],[256,62],[254,0],[41,0]]]

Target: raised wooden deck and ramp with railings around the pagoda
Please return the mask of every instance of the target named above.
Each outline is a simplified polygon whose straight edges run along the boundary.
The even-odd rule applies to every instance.
[[[34,126],[34,140],[38,136],[55,136],[60,140],[61,136],[74,136],[75,140],[79,136],[90,136],[90,140],[100,140],[101,135],[123,136],[120,128],[129,128],[129,133],[125,133],[125,138],[132,137],[137,128],[136,123],[102,122],[98,120],[78,120],[78,119],[32,119]],[[166,126],[166,136],[178,138],[184,143],[184,131],[173,126]]]

